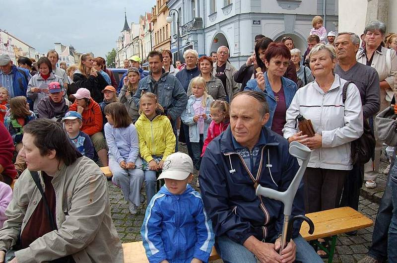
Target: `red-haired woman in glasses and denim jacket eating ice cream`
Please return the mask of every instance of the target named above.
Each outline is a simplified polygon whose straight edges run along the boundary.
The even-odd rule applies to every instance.
[[[257,45],[261,45],[261,41]],[[257,45],[255,45],[255,50],[257,50]],[[268,45],[265,52],[262,48],[258,48],[258,54],[267,70],[265,73],[257,72],[256,79],[249,80],[244,90],[265,93],[270,114],[266,127],[282,136],[282,129],[286,123],[285,113],[297,90],[295,82],[283,77],[291,59],[291,53],[284,44],[273,42]]]

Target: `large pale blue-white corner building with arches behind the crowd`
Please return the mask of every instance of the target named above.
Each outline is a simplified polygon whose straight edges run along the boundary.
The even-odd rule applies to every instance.
[[[257,34],[274,41],[291,36],[303,52],[314,16],[324,18],[327,31],[338,31],[337,0],[168,0],[167,6],[179,11],[183,49],[193,47],[209,55],[227,46],[236,67],[254,51]],[[170,13],[171,48],[176,48],[176,12]]]

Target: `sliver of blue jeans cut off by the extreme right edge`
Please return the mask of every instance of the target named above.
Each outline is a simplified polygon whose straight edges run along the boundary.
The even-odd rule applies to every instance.
[[[392,193],[393,214],[389,225],[388,259],[389,262],[397,262],[397,251],[394,247],[397,242],[397,163],[390,169],[388,186]],[[386,193],[385,193],[386,194]],[[375,231],[375,230],[374,230]]]

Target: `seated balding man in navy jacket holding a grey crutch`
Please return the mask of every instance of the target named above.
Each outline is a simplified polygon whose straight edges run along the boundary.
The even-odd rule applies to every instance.
[[[269,109],[263,94],[238,93],[230,105],[230,126],[207,146],[199,182],[204,207],[223,262],[322,263],[299,235],[295,221],[290,243],[280,256],[284,220],[280,201],[255,195],[256,187],[287,190],[299,169],[288,152],[288,141],[265,127]],[[295,196],[292,215],[305,214],[303,184]]]

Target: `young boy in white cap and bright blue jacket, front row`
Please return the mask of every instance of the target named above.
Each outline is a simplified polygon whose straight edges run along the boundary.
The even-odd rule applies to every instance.
[[[201,196],[189,183],[193,161],[176,152],[167,157],[163,172],[165,186],[151,199],[140,230],[150,263],[208,262],[214,245],[212,224]]]

